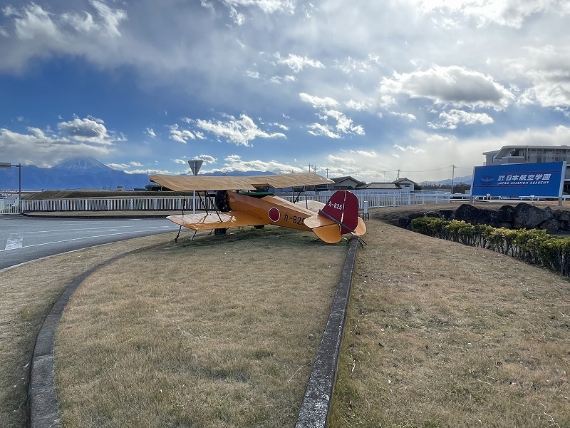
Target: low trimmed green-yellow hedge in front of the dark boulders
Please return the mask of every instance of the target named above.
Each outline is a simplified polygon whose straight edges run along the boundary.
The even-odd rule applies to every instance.
[[[433,217],[415,218],[411,228],[423,235],[488,248],[570,276],[570,238],[556,238],[545,230],[493,228]]]

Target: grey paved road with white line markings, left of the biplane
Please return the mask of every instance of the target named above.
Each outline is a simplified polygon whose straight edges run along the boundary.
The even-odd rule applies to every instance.
[[[178,230],[165,218],[69,219],[0,215],[0,270],[31,260]]]

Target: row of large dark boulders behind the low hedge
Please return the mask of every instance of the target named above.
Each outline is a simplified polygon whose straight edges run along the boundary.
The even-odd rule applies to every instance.
[[[497,210],[477,208],[465,203],[455,210],[445,208],[425,213],[410,213],[398,218],[398,225],[409,229],[414,218],[424,216],[445,220],[464,220],[473,225],[484,224],[494,228],[544,229],[548,233],[570,231],[570,211],[553,210],[550,207],[539,208],[524,202],[516,206],[503,205]]]

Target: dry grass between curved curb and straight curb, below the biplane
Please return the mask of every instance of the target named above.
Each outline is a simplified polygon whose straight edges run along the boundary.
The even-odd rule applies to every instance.
[[[81,285],[56,337],[66,427],[291,427],[347,245],[199,236]]]

